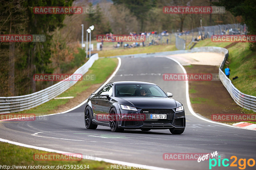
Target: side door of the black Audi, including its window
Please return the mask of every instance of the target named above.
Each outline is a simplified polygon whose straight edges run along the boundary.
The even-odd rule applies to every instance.
[[[108,112],[109,112],[109,107],[110,107],[110,97],[113,96],[112,94],[113,88],[112,85],[109,84],[105,86],[97,95],[96,98],[96,119],[98,121],[108,123]],[[109,97],[107,96],[101,96],[100,94],[103,92],[109,92]]]

